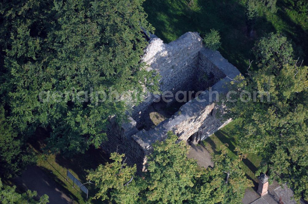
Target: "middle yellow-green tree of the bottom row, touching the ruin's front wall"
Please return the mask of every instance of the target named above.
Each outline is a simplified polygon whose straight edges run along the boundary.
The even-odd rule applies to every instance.
[[[189,146],[177,142],[178,136],[168,132],[165,141],[153,145],[148,156],[146,197],[153,203],[182,203],[193,197],[193,186],[201,171],[195,159],[188,159]]]

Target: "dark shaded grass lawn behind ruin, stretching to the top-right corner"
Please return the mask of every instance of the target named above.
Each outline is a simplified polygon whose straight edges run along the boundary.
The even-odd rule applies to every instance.
[[[255,25],[255,37],[246,36],[245,0],[147,0],[144,9],[148,21],[156,28],[155,34],[164,42],[176,40],[188,31],[197,31],[201,37],[217,29],[221,34],[221,54],[242,73],[246,73],[249,59],[254,60],[251,49],[265,33],[282,32],[298,48],[302,47],[303,59],[308,57],[308,20],[305,13],[294,10],[292,0],[279,0],[276,14],[264,13]],[[307,64],[307,61],[305,62]],[[256,64],[252,65],[257,69]]]

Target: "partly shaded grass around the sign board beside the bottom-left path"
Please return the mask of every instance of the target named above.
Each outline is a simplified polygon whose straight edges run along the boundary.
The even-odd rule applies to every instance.
[[[77,154],[72,157],[64,157],[59,154],[44,155],[42,147],[45,146],[44,139],[46,139],[47,135],[48,132],[43,128],[39,128],[35,137],[29,141],[29,146],[38,156],[37,166],[45,171],[47,176],[55,180],[61,190],[74,200],[75,203],[83,204],[86,201],[104,203],[99,199],[92,200],[92,197],[95,195],[94,184],[84,185],[89,190],[88,199],[86,199],[85,193],[79,193],[79,188],[77,186],[73,188],[72,181],[70,179],[66,180],[66,173],[69,170],[81,183],[86,183],[87,172],[85,170],[95,169],[99,164],[106,163],[109,156],[101,149],[94,148],[90,148],[85,154]],[[108,203],[108,201],[105,203]]]

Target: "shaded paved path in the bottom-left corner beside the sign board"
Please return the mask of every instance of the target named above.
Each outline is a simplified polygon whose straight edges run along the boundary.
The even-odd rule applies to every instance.
[[[36,190],[39,196],[47,194],[50,204],[71,203],[71,199],[57,188],[56,182],[47,177],[37,166],[27,167],[27,169],[22,172],[22,175],[16,177],[14,180],[16,185],[26,190]]]

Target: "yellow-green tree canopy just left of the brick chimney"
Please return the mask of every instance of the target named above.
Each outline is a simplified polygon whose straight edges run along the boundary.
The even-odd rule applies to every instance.
[[[244,155],[228,155],[227,145],[222,145],[221,152],[213,155],[213,167],[208,167],[198,179],[195,196],[191,203],[240,204],[245,190],[253,186],[240,167]]]

